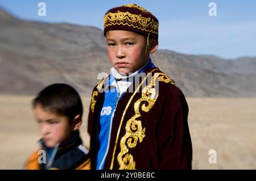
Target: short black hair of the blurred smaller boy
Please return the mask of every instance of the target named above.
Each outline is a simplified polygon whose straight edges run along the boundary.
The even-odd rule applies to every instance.
[[[38,96],[32,100],[32,107],[40,104],[44,110],[49,110],[58,115],[67,116],[69,121],[76,115],[82,117],[82,101],[79,93],[65,83],[55,83],[45,87]]]

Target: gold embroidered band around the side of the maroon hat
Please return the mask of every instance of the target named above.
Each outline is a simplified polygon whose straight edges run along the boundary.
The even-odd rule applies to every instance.
[[[141,14],[131,14],[130,12],[109,12],[104,16],[104,28],[114,25],[123,25],[158,35],[158,22],[154,19],[145,18]],[[139,26],[138,26],[139,24]]]

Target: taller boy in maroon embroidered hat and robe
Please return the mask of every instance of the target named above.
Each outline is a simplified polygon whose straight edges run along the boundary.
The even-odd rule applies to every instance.
[[[92,169],[191,169],[187,102],[150,58],[158,19],[135,4],[114,7],[104,35],[113,68],[92,92]]]

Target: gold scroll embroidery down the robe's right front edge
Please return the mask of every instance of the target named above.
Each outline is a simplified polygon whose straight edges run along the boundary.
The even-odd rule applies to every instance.
[[[154,106],[156,99],[158,98],[158,92],[155,90],[157,80],[160,82],[171,82],[171,84],[174,84],[166,74],[155,73],[151,79],[150,85],[143,88],[142,97],[134,104],[135,115],[127,121],[125,127],[126,134],[120,141],[121,151],[117,156],[119,169],[135,169],[136,164],[133,155],[129,153],[129,149],[135,148],[137,142],[139,141],[141,143],[143,138],[146,136],[146,129],[142,127],[141,120],[137,120],[137,118],[141,117],[140,108],[142,111],[148,112]],[[123,114],[125,113],[126,110]],[[122,116],[122,120],[123,117],[124,115]]]

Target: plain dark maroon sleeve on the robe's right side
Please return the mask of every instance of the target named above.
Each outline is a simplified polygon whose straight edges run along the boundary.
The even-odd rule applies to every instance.
[[[188,128],[188,104],[183,92],[166,91],[157,132],[158,169],[191,169],[192,143]]]

